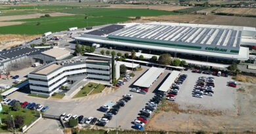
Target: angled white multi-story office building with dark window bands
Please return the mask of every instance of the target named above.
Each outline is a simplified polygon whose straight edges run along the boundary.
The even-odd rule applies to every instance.
[[[68,78],[85,76],[109,84],[111,73],[111,58],[74,58],[54,61],[32,71],[28,74],[28,82],[31,93],[51,96],[68,82]]]

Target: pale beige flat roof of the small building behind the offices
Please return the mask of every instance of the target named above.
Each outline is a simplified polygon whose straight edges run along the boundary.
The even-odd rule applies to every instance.
[[[66,49],[61,49],[61,48],[53,48],[45,52],[42,52],[42,54],[51,56],[53,58],[58,58],[60,56],[63,56],[64,54],[70,54],[70,51]]]

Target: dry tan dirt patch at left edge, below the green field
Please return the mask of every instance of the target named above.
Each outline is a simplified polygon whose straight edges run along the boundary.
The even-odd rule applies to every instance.
[[[41,37],[41,35],[26,35],[26,41],[30,41],[37,37]],[[22,43],[24,43],[24,35],[0,35],[0,49],[11,48],[12,46]]]

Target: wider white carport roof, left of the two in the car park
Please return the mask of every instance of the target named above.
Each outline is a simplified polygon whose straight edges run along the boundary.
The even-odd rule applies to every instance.
[[[142,75],[133,85],[143,87],[143,88],[149,88],[151,84],[158,78],[158,76],[163,73],[165,69],[158,68],[158,67],[151,67]]]

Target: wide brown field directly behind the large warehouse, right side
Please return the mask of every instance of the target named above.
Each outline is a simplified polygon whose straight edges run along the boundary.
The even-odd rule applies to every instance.
[[[246,20],[246,21],[245,21]],[[181,22],[192,24],[213,24],[213,25],[238,25],[247,27],[256,27],[256,18],[240,17],[240,16],[220,16],[220,15],[200,15],[200,14],[184,14],[184,15],[167,15],[143,18],[135,20],[135,22]]]

